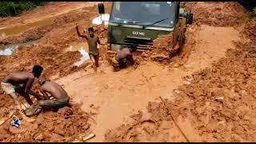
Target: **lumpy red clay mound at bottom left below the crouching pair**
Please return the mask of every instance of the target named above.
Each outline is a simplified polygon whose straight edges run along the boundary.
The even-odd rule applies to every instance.
[[[6,97],[1,95],[1,98]],[[80,106],[72,105],[58,112],[43,112],[35,122],[21,120],[19,128],[6,122],[1,126],[0,142],[72,142],[89,134],[89,117],[90,114],[81,111]]]

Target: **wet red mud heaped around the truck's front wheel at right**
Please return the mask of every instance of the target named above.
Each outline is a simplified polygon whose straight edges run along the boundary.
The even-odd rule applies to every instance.
[[[182,66],[188,59],[191,50],[193,50],[193,46],[196,42],[194,40],[194,31],[198,30],[199,27],[190,26],[189,29],[190,30],[186,30],[186,42],[184,46],[175,50],[170,49],[170,42],[173,41],[173,35],[167,34],[163,38],[157,38],[154,40],[154,47],[157,47],[157,49],[142,52],[140,54],[134,54],[136,61],[138,61],[138,63],[154,61],[162,65]]]

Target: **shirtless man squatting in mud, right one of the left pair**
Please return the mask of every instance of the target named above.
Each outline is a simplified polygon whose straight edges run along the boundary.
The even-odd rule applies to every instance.
[[[42,96],[40,97],[44,99],[34,103],[30,108],[26,109],[26,116],[38,114],[42,109],[60,108],[69,104],[70,97],[58,83],[47,81],[46,78],[40,78],[38,83],[42,93]],[[47,93],[54,99],[50,99]]]

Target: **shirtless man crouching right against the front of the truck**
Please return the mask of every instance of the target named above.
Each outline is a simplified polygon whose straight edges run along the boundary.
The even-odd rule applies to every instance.
[[[114,71],[121,70],[126,67],[124,60],[130,62],[130,64],[134,65],[133,51],[136,51],[137,46],[132,44],[130,47],[125,47],[122,50],[118,51],[118,53],[110,58],[110,64],[114,67]]]

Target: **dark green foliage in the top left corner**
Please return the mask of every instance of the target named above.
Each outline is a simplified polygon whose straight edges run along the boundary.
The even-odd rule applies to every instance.
[[[26,10],[42,6],[46,2],[0,2],[0,17],[16,16]]]

